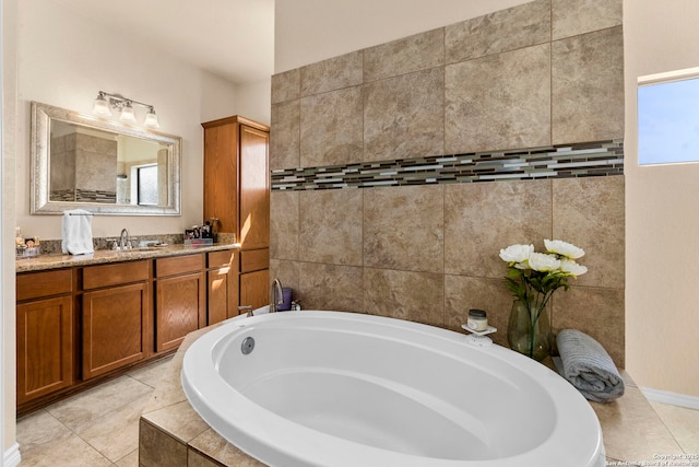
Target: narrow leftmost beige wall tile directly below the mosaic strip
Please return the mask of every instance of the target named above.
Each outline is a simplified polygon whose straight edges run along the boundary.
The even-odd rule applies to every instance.
[[[272,191],[270,197],[270,257],[298,258],[299,191]]]

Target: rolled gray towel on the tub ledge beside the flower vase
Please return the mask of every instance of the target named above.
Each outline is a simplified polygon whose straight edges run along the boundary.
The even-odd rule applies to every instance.
[[[608,402],[624,395],[624,380],[600,342],[579,330],[564,329],[556,343],[562,366],[558,372],[587,399]]]

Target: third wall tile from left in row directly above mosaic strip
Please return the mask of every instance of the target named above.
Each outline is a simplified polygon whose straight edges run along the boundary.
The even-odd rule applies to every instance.
[[[365,161],[443,154],[442,68],[366,84],[363,95]]]

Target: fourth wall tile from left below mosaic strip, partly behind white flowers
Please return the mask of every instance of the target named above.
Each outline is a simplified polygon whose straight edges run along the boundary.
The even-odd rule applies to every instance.
[[[501,278],[498,256],[513,244],[543,248],[552,232],[549,180],[449,185],[445,195],[445,272]]]

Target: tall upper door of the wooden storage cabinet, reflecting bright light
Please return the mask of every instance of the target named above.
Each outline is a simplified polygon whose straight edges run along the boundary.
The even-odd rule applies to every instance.
[[[270,245],[269,133],[240,126],[240,243],[242,249]]]

